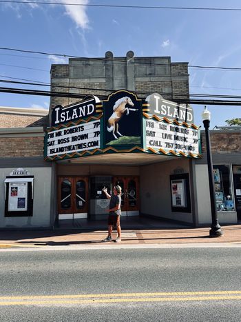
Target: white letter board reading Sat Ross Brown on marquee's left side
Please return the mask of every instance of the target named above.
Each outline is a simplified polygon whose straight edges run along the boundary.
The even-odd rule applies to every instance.
[[[92,121],[48,132],[48,157],[100,148],[100,125],[100,121]]]

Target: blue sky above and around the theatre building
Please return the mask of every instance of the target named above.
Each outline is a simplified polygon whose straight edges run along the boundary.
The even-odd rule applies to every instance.
[[[241,11],[158,10],[0,3],[1,48],[17,48],[79,57],[170,56],[191,66],[241,68]],[[239,0],[59,0],[64,3],[134,6],[241,8]],[[52,63],[66,59],[0,50],[0,79],[8,77],[50,83]],[[30,69],[33,68],[33,69]],[[193,94],[239,95],[241,70],[189,68]],[[14,79],[13,79],[14,80]],[[1,83],[3,87],[49,90]],[[0,106],[48,108],[49,98],[0,93]],[[202,125],[202,105],[192,105]],[[208,106],[211,128],[241,117],[239,106]]]

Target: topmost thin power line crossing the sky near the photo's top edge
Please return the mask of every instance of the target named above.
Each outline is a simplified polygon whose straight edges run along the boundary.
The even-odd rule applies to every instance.
[[[159,10],[205,10],[205,11],[241,11],[240,8],[205,8],[205,7],[163,7],[163,6],[132,6],[132,5],[107,5],[94,3],[67,3],[67,2],[48,2],[48,1],[11,1],[0,0],[0,3],[34,3],[41,5],[57,5],[57,6],[81,6],[96,8],[130,8],[130,9],[159,9]]]

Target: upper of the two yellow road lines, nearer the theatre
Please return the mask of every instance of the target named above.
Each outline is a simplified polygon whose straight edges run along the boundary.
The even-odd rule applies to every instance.
[[[154,292],[154,293],[108,293],[108,294],[62,294],[62,295],[30,295],[30,296],[0,296],[1,300],[23,300],[23,299],[90,299],[102,297],[130,297],[130,296],[189,296],[189,295],[230,295],[241,294],[237,291],[200,291],[200,292]]]

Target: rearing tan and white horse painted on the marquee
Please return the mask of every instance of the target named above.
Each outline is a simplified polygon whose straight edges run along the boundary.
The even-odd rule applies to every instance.
[[[123,137],[123,135],[118,132],[118,121],[120,121],[121,117],[123,117],[123,114],[126,112],[126,114],[129,114],[129,111],[137,111],[138,108],[126,108],[125,105],[134,106],[134,103],[129,97],[122,97],[121,99],[118,99],[116,103],[113,106],[113,114],[108,119],[108,127],[107,131],[112,132],[114,138],[117,140],[118,137],[116,137],[116,134],[118,134],[120,137]]]

